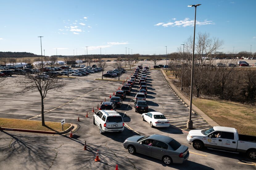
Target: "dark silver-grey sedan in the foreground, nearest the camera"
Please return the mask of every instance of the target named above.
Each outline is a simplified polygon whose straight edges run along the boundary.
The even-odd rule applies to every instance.
[[[141,153],[163,160],[167,165],[182,164],[189,157],[188,146],[181,145],[171,137],[158,134],[128,137],[123,145],[130,154]]]

